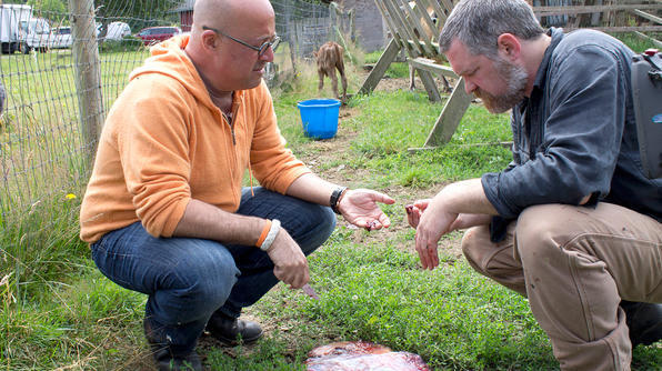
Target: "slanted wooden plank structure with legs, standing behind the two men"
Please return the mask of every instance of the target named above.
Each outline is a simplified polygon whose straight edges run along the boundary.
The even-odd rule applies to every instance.
[[[464,91],[464,81],[443,64],[438,38],[441,27],[453,4],[451,0],[375,0],[377,6],[391,30],[392,39],[368,76],[359,93],[370,93],[384,76],[395,57],[403,50],[432,101],[441,101],[434,82],[434,74],[457,80],[434,127],[428,134],[423,148],[434,148],[451,140],[460,120],[471,103],[471,96]],[[434,18],[434,20],[433,20]],[[417,150],[417,149],[411,149]]]

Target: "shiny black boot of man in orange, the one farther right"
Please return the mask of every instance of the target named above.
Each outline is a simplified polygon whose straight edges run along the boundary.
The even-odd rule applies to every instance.
[[[255,322],[238,320],[215,312],[207,322],[207,331],[225,345],[248,344],[262,337],[262,329]]]

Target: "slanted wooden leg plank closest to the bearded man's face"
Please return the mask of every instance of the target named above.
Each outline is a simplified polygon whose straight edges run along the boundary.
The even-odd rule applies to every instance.
[[[430,131],[424,147],[437,147],[448,143],[458,129],[460,120],[471,103],[471,96],[464,91],[464,79],[458,79],[453,92],[443,107],[437,123]]]

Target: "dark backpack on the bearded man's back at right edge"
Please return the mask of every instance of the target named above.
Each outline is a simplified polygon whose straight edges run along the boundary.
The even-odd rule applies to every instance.
[[[644,173],[662,178],[662,52],[656,49],[632,58],[632,99]]]

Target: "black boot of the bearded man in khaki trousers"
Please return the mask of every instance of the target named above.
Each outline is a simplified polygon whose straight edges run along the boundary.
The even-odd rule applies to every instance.
[[[650,345],[662,339],[662,304],[621,301],[632,348]]]

